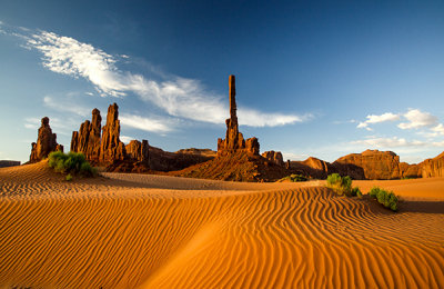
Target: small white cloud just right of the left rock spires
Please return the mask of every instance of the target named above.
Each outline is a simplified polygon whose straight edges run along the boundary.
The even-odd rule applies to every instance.
[[[125,127],[135,128],[150,132],[170,132],[174,130],[172,120],[149,119],[132,114],[122,114],[119,117],[120,123]]]

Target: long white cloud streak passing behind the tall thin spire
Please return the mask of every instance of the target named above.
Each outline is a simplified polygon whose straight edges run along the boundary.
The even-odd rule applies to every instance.
[[[53,72],[88,79],[102,97],[124,97],[133,92],[142,100],[154,103],[170,116],[198,121],[223,123],[228,106],[222,98],[208,91],[198,80],[170,77],[167,81],[145,79],[141,74],[122,72],[117,60],[101,49],[73,38],[41,31],[21,36],[28,47],[43,53],[43,66]],[[125,58],[124,54],[121,57]],[[241,108],[241,124],[275,127],[306,121],[307,116],[263,113]]]

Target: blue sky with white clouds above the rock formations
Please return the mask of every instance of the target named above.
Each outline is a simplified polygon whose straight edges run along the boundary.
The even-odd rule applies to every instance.
[[[91,2],[1,1],[0,159],[28,160],[44,116],[69,148],[112,102],[123,141],[216,149],[229,74],[261,152],[444,150],[442,1]]]

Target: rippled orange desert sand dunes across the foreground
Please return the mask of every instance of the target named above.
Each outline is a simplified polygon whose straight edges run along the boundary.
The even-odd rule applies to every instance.
[[[444,179],[238,183],[0,169],[0,287],[444,288]]]

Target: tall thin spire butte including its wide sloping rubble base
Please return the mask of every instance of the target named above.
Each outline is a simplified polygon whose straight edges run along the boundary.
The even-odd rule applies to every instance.
[[[235,102],[235,77],[229,77],[230,118],[225,120],[225,139],[218,139],[214,159],[199,163],[172,176],[236,181],[272,181],[289,173],[282,166],[282,153],[269,152],[261,156],[256,138],[244,139],[239,131]],[[281,159],[280,159],[281,157]],[[278,165],[278,162],[281,163]]]

